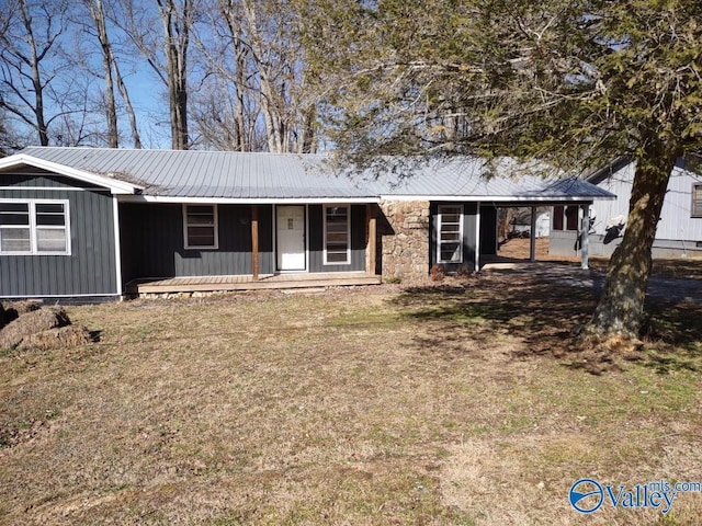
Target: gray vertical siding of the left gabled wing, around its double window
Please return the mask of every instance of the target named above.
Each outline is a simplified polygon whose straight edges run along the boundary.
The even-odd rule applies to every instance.
[[[116,295],[113,198],[109,191],[36,169],[3,174],[0,198],[66,199],[70,255],[0,255],[0,297]],[[23,187],[25,187],[23,190]],[[42,188],[42,190],[36,190]]]

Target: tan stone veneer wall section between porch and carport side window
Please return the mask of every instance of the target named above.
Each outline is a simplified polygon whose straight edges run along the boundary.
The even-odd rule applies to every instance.
[[[382,201],[380,206],[389,224],[389,229],[378,231],[383,277],[426,281],[429,277],[429,202]]]

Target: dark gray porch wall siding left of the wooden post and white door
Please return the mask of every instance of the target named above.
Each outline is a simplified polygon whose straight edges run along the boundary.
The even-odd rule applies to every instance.
[[[121,204],[122,273],[136,278],[252,273],[251,207],[218,205],[218,249],[186,250],[181,204]],[[273,273],[272,207],[259,206],[259,272]]]

